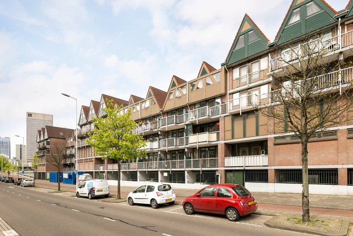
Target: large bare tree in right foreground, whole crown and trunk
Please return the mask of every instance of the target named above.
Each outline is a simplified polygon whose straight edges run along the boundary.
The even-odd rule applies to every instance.
[[[352,114],[351,62],[344,63],[344,55],[330,48],[330,43],[316,34],[285,50],[276,49],[281,56],[272,61],[271,101],[253,101],[262,114],[272,118],[268,123],[271,132],[290,133],[301,141],[303,222],[310,221],[308,141],[318,132],[334,132],[330,128],[346,124]]]

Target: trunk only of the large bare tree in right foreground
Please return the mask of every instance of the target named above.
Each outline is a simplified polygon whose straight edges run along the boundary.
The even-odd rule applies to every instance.
[[[302,142],[302,207],[303,207],[303,222],[310,222],[310,209],[309,209],[309,179],[308,179],[308,141]]]

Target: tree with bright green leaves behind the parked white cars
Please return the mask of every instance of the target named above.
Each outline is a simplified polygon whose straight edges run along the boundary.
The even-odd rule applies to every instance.
[[[87,143],[95,148],[103,159],[113,159],[117,162],[117,199],[121,199],[120,180],[121,162],[123,160],[134,161],[136,158],[146,156],[143,136],[133,132],[136,122],[131,118],[131,111],[121,113],[123,106],[116,106],[112,101],[106,103],[103,108],[106,116],[93,118],[93,133],[89,134]]]

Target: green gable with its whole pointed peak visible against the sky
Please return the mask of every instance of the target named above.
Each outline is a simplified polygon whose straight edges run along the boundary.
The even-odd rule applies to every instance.
[[[249,32],[253,31],[257,39],[249,42]],[[236,49],[239,39],[244,39],[244,45]],[[230,65],[234,62],[241,61],[250,56],[256,55],[268,49],[268,43],[270,41],[257,27],[254,21],[245,14],[242,24],[239,27],[237,36],[231,45],[229,53],[226,58],[226,65]]]

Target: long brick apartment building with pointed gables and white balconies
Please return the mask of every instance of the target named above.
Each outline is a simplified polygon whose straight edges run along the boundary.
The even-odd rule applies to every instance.
[[[122,184],[163,181],[195,187],[227,182],[254,192],[301,193],[301,144],[284,123],[259,112],[258,105],[278,103],[276,95],[287,81],[273,81],[289,66],[299,67],[298,55],[306,46],[324,52],[325,63],[341,65],[337,71],[323,71],[325,81],[339,89],[351,84],[352,8],[350,1],[336,11],[323,0],[293,0],[274,41],[245,14],[219,69],[202,62],[195,78],[174,75],[166,91],[150,86],[146,98],[131,95],[125,101],[102,95],[99,102],[82,106],[78,170],[117,179],[116,163],[96,156],[85,141],[93,129],[92,117],[104,117],[102,108],[109,99],[124,105],[122,112],[132,111],[135,132],[146,140],[145,158],[122,163]],[[310,38],[304,42],[306,35]],[[353,195],[352,138],[353,120],[347,119],[309,140],[310,193]]]

